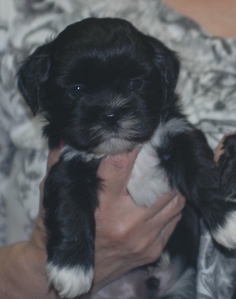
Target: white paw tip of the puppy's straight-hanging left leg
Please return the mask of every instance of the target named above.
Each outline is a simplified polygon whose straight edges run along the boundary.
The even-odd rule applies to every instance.
[[[93,282],[93,268],[84,270],[74,268],[60,268],[52,263],[47,264],[47,277],[61,298],[74,298],[91,289]]]

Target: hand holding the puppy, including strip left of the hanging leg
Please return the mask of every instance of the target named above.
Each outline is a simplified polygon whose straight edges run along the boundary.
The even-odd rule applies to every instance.
[[[184,198],[171,193],[160,198],[151,209],[136,207],[127,194],[126,186],[132,173],[137,152],[104,159],[97,175],[104,179],[99,193],[100,206],[95,211],[95,280],[93,292],[127,273],[132,268],[155,261],[181,217]],[[47,173],[58,161],[59,151],[49,152]],[[57,298],[48,289],[45,264],[46,231],[42,208],[43,186],[40,184],[40,211],[36,226],[25,246],[25,264],[29,277],[26,298]]]

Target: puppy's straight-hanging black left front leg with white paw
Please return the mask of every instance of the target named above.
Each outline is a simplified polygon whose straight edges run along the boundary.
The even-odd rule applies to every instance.
[[[63,298],[88,292],[93,282],[96,168],[92,161],[64,155],[45,181],[47,275]]]

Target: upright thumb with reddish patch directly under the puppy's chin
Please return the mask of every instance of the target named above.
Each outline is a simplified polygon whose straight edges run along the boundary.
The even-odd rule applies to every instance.
[[[132,174],[134,161],[139,151],[134,149],[132,152],[109,156],[102,159],[97,170],[97,175],[102,179],[103,190],[109,198],[127,194],[127,183]]]

